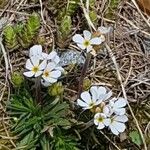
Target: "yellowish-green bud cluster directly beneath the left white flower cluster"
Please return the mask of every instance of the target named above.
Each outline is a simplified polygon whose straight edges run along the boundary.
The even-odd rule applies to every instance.
[[[48,88],[48,93],[50,96],[59,96],[63,94],[64,88],[61,82],[54,83]]]

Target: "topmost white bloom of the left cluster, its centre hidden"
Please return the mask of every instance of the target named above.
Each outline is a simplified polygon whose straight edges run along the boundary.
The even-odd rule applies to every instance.
[[[29,57],[37,57],[38,59],[41,58],[42,55],[42,46],[41,45],[34,45],[30,48]]]

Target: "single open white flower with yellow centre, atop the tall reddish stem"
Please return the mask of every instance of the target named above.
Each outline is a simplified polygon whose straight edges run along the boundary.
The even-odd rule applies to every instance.
[[[84,37],[82,37],[80,34],[75,34],[72,40],[77,43],[78,47],[81,49],[86,49],[87,53],[93,49],[92,45],[99,45],[102,43],[99,37],[92,38],[91,32],[87,30],[83,31],[83,35]]]

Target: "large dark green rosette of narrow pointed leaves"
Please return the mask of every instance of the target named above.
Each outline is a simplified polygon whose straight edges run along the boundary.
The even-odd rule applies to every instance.
[[[17,148],[23,150],[50,150],[53,130],[71,126],[67,118],[69,106],[55,99],[44,102],[43,106],[36,104],[26,90],[14,94],[7,105],[12,119],[12,133],[19,137]],[[51,131],[50,131],[51,129]]]

